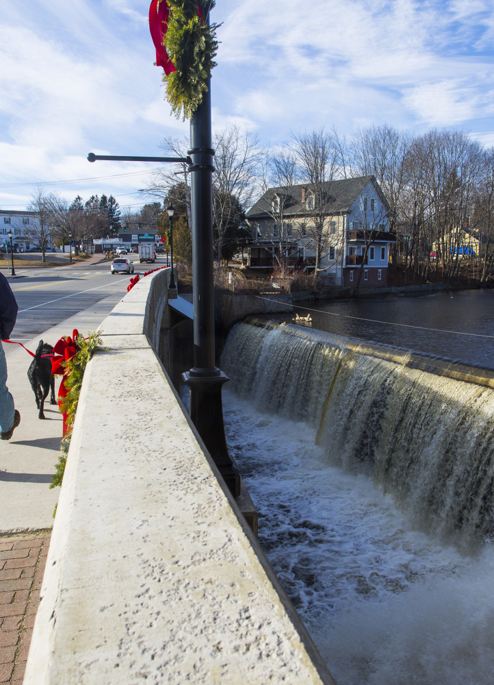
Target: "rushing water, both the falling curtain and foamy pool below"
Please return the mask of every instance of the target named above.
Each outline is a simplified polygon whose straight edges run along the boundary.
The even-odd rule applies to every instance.
[[[259,509],[260,543],[337,683],[490,684],[494,549],[484,541],[468,551],[465,542],[482,540],[471,512],[482,509],[486,488],[465,496],[458,484],[471,482],[465,460],[477,451],[486,482],[492,389],[442,376],[436,383],[430,371],[369,361],[348,345],[329,349],[315,332],[311,340],[301,333],[299,345],[276,325],[248,329],[231,334],[222,356],[231,377],[229,447]],[[365,425],[387,427],[366,442]],[[434,497],[442,503],[427,516]],[[458,521],[462,498],[470,513]],[[484,527],[490,515],[482,515]]]

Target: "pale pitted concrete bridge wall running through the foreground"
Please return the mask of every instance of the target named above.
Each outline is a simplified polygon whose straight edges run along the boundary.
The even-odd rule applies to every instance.
[[[168,271],[86,369],[25,685],[333,683],[155,353]]]

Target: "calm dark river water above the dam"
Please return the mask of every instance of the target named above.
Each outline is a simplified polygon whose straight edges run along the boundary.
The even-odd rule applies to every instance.
[[[323,331],[494,369],[494,290],[307,301],[296,312]]]

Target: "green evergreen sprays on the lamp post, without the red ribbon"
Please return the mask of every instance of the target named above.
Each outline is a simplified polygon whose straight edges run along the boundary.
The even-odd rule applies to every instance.
[[[166,0],[161,0],[165,2]],[[191,119],[207,92],[207,79],[216,66],[213,58],[218,49],[216,29],[220,24],[208,26],[198,16],[197,5],[205,16],[207,0],[168,0],[170,14],[165,48],[175,69],[165,74],[166,97],[172,112],[185,119]],[[211,7],[214,6],[214,1]]]

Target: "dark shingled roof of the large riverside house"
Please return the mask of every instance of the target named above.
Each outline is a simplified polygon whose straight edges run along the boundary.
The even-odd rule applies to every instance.
[[[354,201],[359,197],[369,182],[372,182],[375,186],[380,199],[385,203],[385,206],[388,209],[388,203],[384,195],[382,195],[382,191],[374,176],[359,176],[357,178],[345,178],[339,181],[328,181],[324,184],[324,192],[332,199],[330,212],[333,212],[334,214],[337,214],[338,212],[348,212]],[[276,194],[281,195],[281,197],[286,197],[286,200],[283,202],[283,212],[285,214],[305,214],[307,213],[307,208],[305,203],[302,203],[302,188],[306,188],[310,193],[312,187],[313,186],[311,186],[310,183],[302,183],[299,186],[290,186],[289,188],[268,188],[255,205],[248,210],[246,214],[247,219],[271,216],[271,201]]]

